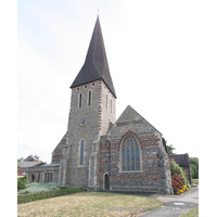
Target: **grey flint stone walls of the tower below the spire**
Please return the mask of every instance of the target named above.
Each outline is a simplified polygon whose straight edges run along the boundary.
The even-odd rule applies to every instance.
[[[91,91],[90,104],[89,91]],[[79,106],[80,94],[81,107]],[[108,106],[112,101],[112,113],[106,108],[106,94]],[[61,184],[85,189],[88,186],[95,187],[100,136],[107,132],[108,120],[115,122],[115,98],[112,97],[103,80],[72,89],[65,154],[61,157]],[[79,164],[81,139],[85,140],[82,165]]]

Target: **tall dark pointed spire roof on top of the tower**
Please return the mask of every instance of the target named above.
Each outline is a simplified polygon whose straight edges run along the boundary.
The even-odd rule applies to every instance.
[[[71,88],[99,79],[103,79],[110,91],[116,98],[112,77],[110,75],[100,20],[98,16],[86,55],[85,64],[82,65]]]

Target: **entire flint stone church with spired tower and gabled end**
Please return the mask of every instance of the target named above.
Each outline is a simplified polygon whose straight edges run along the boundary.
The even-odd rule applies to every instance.
[[[116,119],[117,97],[99,16],[71,90],[67,131],[51,164],[30,167],[28,176],[85,190],[173,193],[162,133],[130,105]]]

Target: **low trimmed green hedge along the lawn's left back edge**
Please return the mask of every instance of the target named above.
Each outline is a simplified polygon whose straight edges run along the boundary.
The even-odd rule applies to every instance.
[[[17,204],[28,203],[31,201],[38,201],[38,200],[42,200],[42,199],[50,199],[50,197],[66,195],[66,194],[71,194],[71,193],[81,192],[81,191],[84,191],[82,187],[67,187],[67,188],[61,188],[59,190],[52,190],[52,191],[18,194],[17,195]]]

